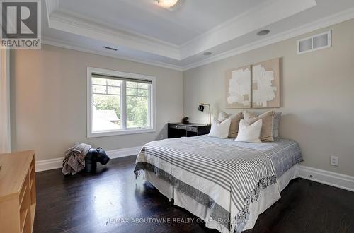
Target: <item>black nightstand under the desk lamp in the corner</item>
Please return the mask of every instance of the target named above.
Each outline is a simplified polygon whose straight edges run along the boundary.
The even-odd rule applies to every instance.
[[[193,137],[209,133],[210,125],[169,123],[167,130],[169,132],[169,138]]]

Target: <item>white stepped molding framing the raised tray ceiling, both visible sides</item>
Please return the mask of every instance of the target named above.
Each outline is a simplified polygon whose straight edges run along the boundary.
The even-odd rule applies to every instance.
[[[316,6],[315,0],[268,0],[180,46],[59,8],[58,0],[46,2],[50,28],[178,61]]]

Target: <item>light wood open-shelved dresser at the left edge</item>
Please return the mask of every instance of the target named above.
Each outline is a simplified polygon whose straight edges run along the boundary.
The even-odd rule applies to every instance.
[[[35,153],[0,155],[0,232],[32,232],[35,220]]]

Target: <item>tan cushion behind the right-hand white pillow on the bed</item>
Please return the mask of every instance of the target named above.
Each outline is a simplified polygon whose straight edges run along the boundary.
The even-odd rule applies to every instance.
[[[262,131],[261,131],[261,140],[273,142],[273,117],[274,111],[265,112],[261,115],[254,114],[251,112],[244,112],[244,119],[249,123],[253,124],[254,122],[262,119]]]

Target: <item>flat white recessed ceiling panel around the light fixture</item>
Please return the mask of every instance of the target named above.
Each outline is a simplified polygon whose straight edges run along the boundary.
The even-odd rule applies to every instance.
[[[169,11],[154,0],[62,0],[59,8],[118,30],[181,45],[264,1],[187,0],[177,11]]]

